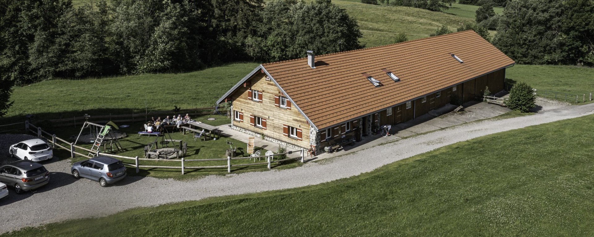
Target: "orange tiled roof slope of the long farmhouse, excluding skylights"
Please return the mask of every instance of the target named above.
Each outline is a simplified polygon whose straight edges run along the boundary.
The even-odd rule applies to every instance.
[[[464,61],[459,63],[451,54]],[[264,68],[318,129],[344,123],[511,66],[474,31],[266,63]],[[400,78],[394,82],[382,69]],[[362,73],[381,81],[375,87]]]

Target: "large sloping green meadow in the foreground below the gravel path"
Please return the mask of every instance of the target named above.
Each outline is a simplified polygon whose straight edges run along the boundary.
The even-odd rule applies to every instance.
[[[584,124],[592,122],[586,116],[492,134],[319,185],[6,236],[590,236],[594,127]]]

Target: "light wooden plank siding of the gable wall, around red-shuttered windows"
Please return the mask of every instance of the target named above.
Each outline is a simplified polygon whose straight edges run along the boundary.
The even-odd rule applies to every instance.
[[[244,121],[233,120],[233,125],[251,132],[264,134],[272,139],[280,140],[291,145],[309,149],[309,124],[305,117],[295,108],[282,108],[276,106],[275,96],[282,96],[280,89],[274,82],[267,81],[264,73],[256,73],[249,79],[249,83],[239,87],[233,94],[233,110],[243,113]],[[248,99],[250,89],[261,92],[261,101]],[[288,100],[287,100],[288,101]],[[289,105],[287,103],[287,105]],[[235,116],[235,113],[232,113]],[[250,116],[258,116],[266,120],[266,129],[252,126]],[[255,122],[252,122],[255,123]],[[283,125],[295,127],[297,132],[301,130],[302,140],[283,135]]]

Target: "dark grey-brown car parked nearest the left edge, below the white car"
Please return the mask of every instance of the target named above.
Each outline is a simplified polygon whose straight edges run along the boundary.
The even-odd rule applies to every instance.
[[[33,161],[15,161],[0,167],[0,182],[14,187],[17,194],[42,187],[49,182],[49,171]]]

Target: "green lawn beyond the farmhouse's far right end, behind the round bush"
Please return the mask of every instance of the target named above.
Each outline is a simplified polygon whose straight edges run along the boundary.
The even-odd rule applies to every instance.
[[[594,68],[582,66],[555,65],[515,65],[505,72],[507,82],[526,82],[537,89],[537,95],[575,103],[576,95],[580,102],[586,94],[594,93]],[[540,92],[539,92],[540,91]],[[546,94],[545,94],[546,93]]]

